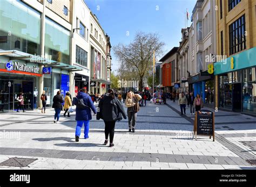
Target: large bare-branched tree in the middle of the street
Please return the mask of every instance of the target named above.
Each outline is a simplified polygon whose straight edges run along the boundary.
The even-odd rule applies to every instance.
[[[153,51],[155,56],[163,53],[164,42],[159,41],[157,33],[137,32],[129,45],[118,44],[113,47],[119,61],[119,75],[138,78],[139,90],[143,89],[143,78],[152,69]]]

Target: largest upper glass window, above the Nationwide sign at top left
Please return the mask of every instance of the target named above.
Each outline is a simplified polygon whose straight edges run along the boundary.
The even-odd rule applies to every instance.
[[[40,54],[40,13],[21,1],[0,1],[0,49]]]

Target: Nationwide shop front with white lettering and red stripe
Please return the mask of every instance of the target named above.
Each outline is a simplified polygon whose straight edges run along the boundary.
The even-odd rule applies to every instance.
[[[24,94],[25,110],[38,107],[39,71],[37,63],[23,60],[9,60],[0,56],[0,112],[15,111],[18,107],[16,98]]]

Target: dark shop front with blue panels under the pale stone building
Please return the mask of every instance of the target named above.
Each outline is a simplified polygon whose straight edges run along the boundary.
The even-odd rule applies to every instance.
[[[188,91],[194,92],[194,96],[199,94],[205,103],[214,102],[214,76],[201,72],[187,78]]]

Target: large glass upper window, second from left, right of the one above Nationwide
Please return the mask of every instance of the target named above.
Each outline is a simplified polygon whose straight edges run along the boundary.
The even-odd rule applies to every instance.
[[[47,59],[70,63],[70,31],[45,18],[45,57]]]

